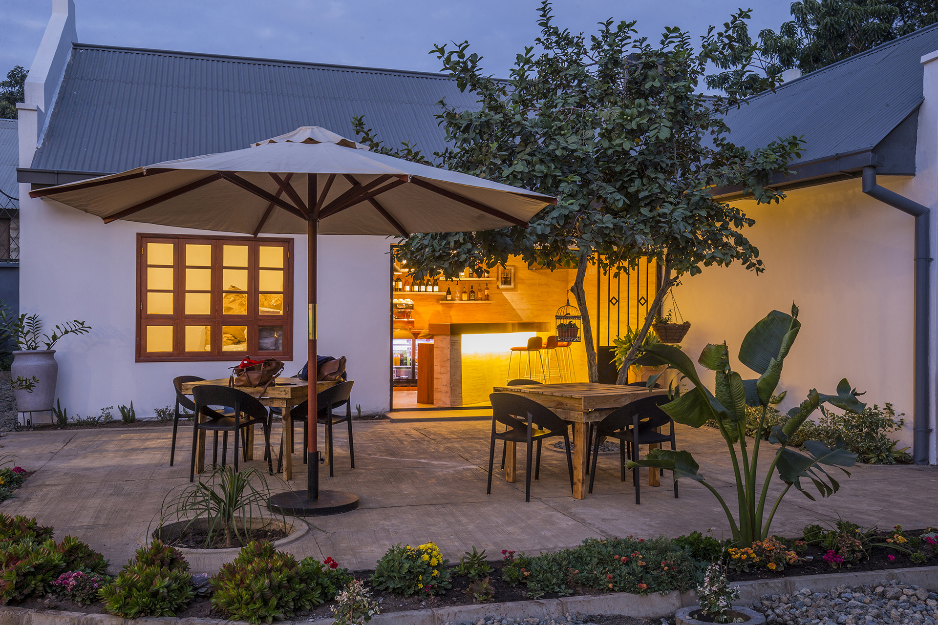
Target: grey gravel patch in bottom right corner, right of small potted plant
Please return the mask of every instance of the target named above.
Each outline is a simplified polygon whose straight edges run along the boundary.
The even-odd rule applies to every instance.
[[[877,586],[831,588],[793,595],[763,595],[752,608],[768,623],[807,625],[934,625],[938,620],[938,594],[926,588],[881,580]]]

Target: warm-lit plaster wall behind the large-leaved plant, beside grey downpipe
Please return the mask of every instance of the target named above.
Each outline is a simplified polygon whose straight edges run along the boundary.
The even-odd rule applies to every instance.
[[[919,199],[915,179],[879,183]],[[785,360],[779,406],[796,406],[811,388],[835,393],[850,380],[862,399],[905,412],[902,447],[912,445],[914,217],[865,196],[858,179],[797,189],[778,205],[736,202],[756,225],[746,236],[766,271],[709,267],[674,290],[691,322],[682,346],[696,362],[707,343],[730,347],[743,378],[758,377],[736,355],[743,337],[769,311],[798,305],[803,326]],[[712,388],[713,373],[698,365]],[[910,450],[911,451],[911,450]]]

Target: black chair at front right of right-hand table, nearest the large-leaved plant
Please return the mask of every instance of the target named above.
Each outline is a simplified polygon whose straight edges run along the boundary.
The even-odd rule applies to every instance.
[[[596,426],[596,443],[593,447],[593,470],[589,478],[589,492],[593,492],[593,481],[596,479],[596,462],[599,455],[599,444],[604,438],[619,439],[619,461],[622,481],[626,481],[626,450],[628,459],[638,460],[639,445],[650,445],[671,441],[671,449],[676,449],[674,439],[674,422],[668,414],[660,408],[671,399],[667,395],[652,395],[629,402],[620,409],[616,409]],[[661,434],[658,427],[671,425],[670,434]],[[649,468],[648,470],[664,469]],[[632,469],[632,483],[635,485],[635,503],[642,503],[639,470]],[[674,476],[674,499],[677,499],[677,476]]]

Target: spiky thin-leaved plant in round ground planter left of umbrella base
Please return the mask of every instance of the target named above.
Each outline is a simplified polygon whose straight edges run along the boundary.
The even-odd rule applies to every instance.
[[[269,518],[266,506],[271,494],[264,473],[258,469],[215,469],[207,481],[186,484],[181,492],[174,488],[166,495],[159,513],[158,538],[165,538],[160,530],[167,524],[186,521],[183,531],[195,524],[202,529],[204,523],[205,548],[219,536],[224,536],[225,547],[233,546],[233,537],[242,545],[248,544],[247,530],[253,522]]]

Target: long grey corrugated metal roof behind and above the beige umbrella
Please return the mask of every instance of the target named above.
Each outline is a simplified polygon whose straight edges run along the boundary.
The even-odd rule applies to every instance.
[[[443,74],[74,44],[34,169],[126,171],[248,147],[352,117],[388,145],[444,147],[437,102],[476,107]]]

